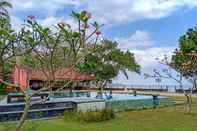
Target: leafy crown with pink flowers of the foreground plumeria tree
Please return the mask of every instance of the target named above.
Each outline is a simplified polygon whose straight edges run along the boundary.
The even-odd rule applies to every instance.
[[[87,50],[87,44],[89,39],[94,38],[100,25],[95,22],[96,24],[92,26],[93,29],[90,29],[88,21],[91,14],[86,11],[72,12],[71,16],[78,22],[78,29],[73,29],[68,23],[61,21],[55,26],[56,30],[54,31],[40,25],[34,16],[28,17],[27,29],[29,36],[26,37],[26,40],[29,44],[33,43],[35,47],[30,55],[28,54],[23,58],[24,65],[40,68],[41,64],[37,64],[40,63],[38,62],[40,60],[37,57],[42,56],[40,59],[44,58],[43,63],[45,61],[48,63],[47,59],[51,59],[50,54],[52,54],[53,58],[56,59],[54,63],[57,64],[57,61],[59,61],[57,64],[59,67],[61,64],[64,64],[61,65],[62,67],[72,67],[78,62],[78,59],[83,60],[80,57],[91,52],[91,50]],[[93,30],[93,32],[88,30]],[[90,34],[87,32],[90,32]],[[98,36],[96,35],[96,39],[98,39]]]

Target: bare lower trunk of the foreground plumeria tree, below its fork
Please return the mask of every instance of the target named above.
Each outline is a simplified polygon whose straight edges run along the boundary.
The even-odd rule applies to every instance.
[[[23,128],[25,121],[27,119],[29,108],[30,108],[30,97],[27,96],[26,101],[25,101],[25,109],[24,109],[23,115],[20,119],[20,122],[19,122],[19,125],[18,125],[16,131],[22,131],[22,128]]]

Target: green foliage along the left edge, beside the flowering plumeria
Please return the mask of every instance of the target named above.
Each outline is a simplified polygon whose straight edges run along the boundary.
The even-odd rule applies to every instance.
[[[9,80],[16,56],[31,50],[24,40],[25,30],[15,31],[11,28],[7,11],[9,7],[12,7],[10,3],[0,1],[0,78],[4,80]]]

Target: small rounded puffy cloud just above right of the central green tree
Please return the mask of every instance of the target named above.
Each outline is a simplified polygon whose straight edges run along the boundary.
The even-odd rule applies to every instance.
[[[150,34],[144,30],[137,30],[128,38],[117,38],[116,40],[120,43],[119,48],[123,50],[146,49],[154,45]]]

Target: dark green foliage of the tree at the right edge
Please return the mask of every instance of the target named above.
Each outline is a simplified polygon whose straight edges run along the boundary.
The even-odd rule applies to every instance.
[[[188,29],[179,39],[179,49],[176,49],[171,60],[171,67],[196,84],[197,76],[197,28]],[[196,88],[196,87],[195,87]]]

